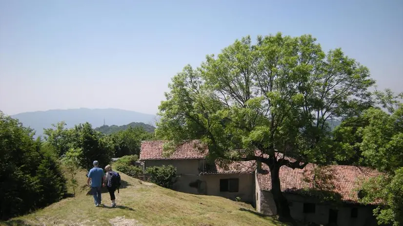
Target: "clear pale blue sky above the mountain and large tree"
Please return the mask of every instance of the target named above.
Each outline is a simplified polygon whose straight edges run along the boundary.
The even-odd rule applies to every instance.
[[[0,0],[0,110],[157,113],[187,63],[279,31],[342,47],[403,91],[402,0]]]

